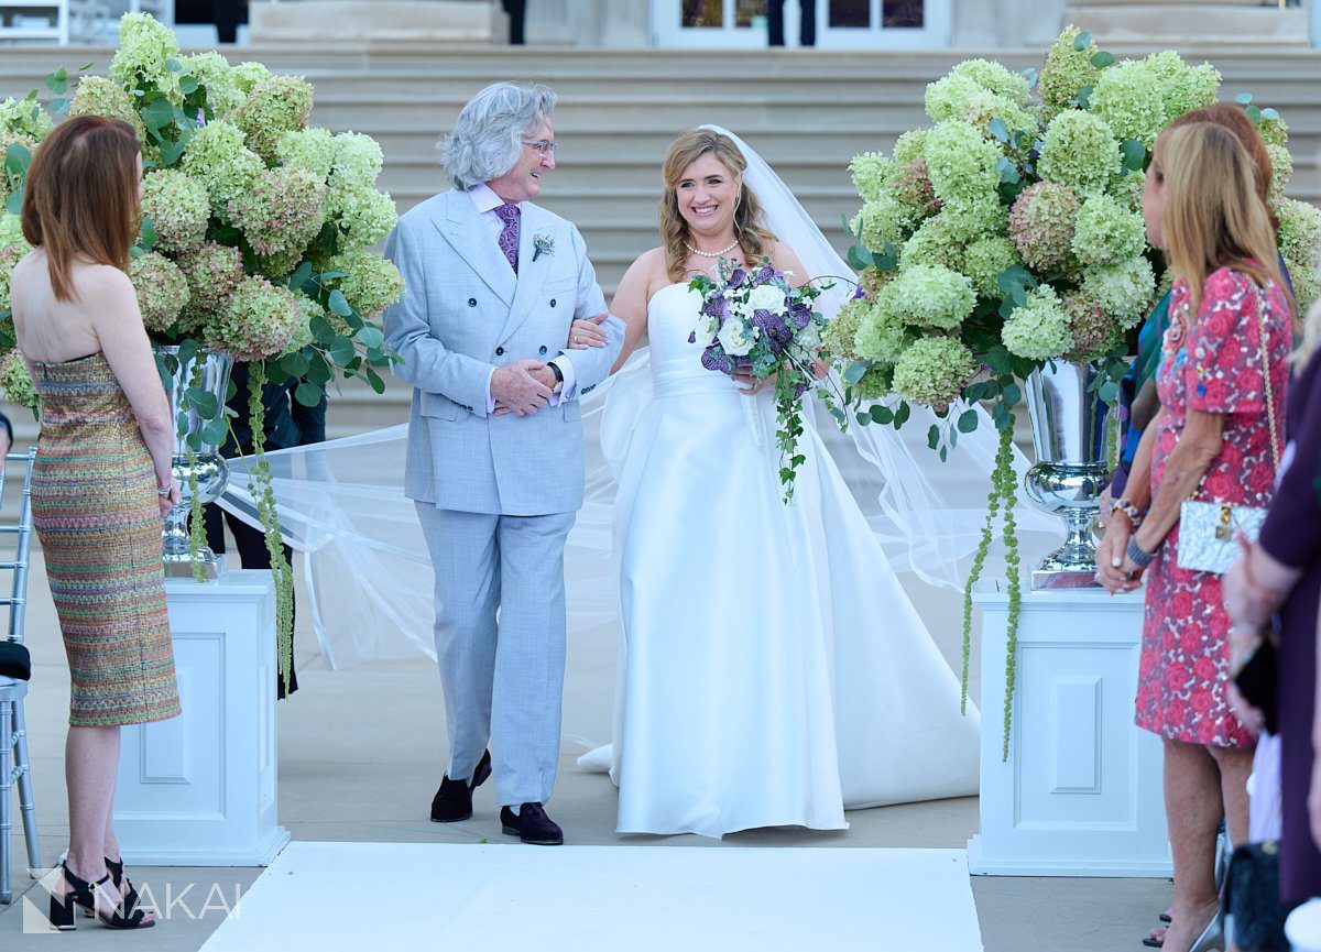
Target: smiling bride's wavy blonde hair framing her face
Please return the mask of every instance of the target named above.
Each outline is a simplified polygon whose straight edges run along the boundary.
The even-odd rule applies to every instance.
[[[683,170],[707,153],[715,154],[729,174],[738,180],[738,198],[734,205],[734,238],[744,254],[744,263],[760,261],[775,250],[775,236],[762,224],[761,202],[742,180],[748,160],[729,136],[711,129],[688,129],[670,144],[662,165],[664,195],[660,198],[660,238],[664,242],[666,272],[671,281],[687,277],[683,267],[688,260],[688,223],[679,211],[679,181]]]

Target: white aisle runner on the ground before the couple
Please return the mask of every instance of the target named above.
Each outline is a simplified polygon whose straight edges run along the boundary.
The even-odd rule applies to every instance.
[[[982,952],[963,850],[292,842],[202,952]]]

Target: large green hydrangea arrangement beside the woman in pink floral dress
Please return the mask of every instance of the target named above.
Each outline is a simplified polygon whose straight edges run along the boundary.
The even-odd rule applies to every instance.
[[[857,409],[881,395],[901,400],[897,409],[857,413],[859,423],[898,428],[909,401],[929,405],[941,419],[929,442],[945,458],[959,433],[978,425],[968,404],[993,401],[1000,453],[966,593],[964,687],[971,586],[996,516],[1011,564],[1013,654],[1018,380],[1050,360],[1092,363],[1102,371],[1099,396],[1116,400],[1129,331],[1168,287],[1141,217],[1151,149],[1172,120],[1214,103],[1219,86],[1207,63],[1192,66],[1169,50],[1116,62],[1070,26],[1040,77],[985,59],[959,63],[926,90],[931,128],[906,132],[888,156],[868,152],[851,164],[863,206],[849,224],[857,238],[849,263],[865,296],[827,329],[826,345]],[[1283,197],[1292,160],[1279,114],[1251,96],[1239,103],[1268,144],[1280,248],[1306,306],[1317,296],[1321,211]],[[1007,701],[1007,743],[1008,733]]]

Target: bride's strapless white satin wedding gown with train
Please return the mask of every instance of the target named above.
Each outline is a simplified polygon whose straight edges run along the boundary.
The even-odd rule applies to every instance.
[[[774,396],[703,368],[699,302],[657,292],[650,399],[617,384],[602,423],[624,646],[613,750],[584,766],[609,763],[620,832],[841,829],[976,792],[976,710],[811,425],[782,502]]]

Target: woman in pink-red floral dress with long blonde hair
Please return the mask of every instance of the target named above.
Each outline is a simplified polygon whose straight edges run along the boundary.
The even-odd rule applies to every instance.
[[[1252,158],[1232,132],[1210,123],[1162,132],[1143,213],[1148,240],[1177,276],[1157,374],[1161,409],[1143,434],[1128,498],[1115,503],[1096,574],[1110,592],[1149,576],[1136,722],[1165,745],[1174,916],[1164,948],[1199,952],[1222,948],[1215,829],[1223,817],[1232,842],[1247,834],[1254,737],[1226,698],[1221,577],[1178,564],[1180,506],[1194,494],[1269,503],[1293,301]]]

